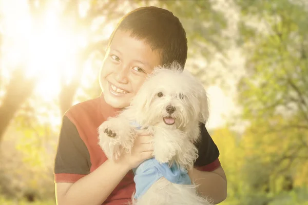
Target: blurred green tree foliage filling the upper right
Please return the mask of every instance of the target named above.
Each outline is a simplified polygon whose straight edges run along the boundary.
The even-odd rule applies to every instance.
[[[247,69],[239,83],[244,117],[284,113],[307,125],[308,11],[286,0],[248,2],[239,1]],[[255,28],[246,22],[252,16],[260,18]]]

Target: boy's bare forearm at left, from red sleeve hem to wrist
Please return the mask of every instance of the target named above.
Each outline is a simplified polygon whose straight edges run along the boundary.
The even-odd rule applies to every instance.
[[[124,165],[107,160],[74,183],[56,183],[57,204],[102,204],[130,170]]]

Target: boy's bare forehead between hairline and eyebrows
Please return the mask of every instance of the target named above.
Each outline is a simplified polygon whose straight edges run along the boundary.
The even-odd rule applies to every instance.
[[[155,67],[160,64],[160,53],[151,49],[150,45],[142,39],[130,36],[130,32],[118,30],[110,44],[110,51],[116,50],[122,54],[122,58],[138,60]]]

